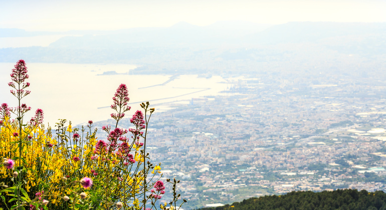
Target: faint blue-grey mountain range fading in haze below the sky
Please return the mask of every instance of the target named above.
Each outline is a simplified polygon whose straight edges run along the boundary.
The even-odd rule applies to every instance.
[[[266,25],[222,21],[197,26],[180,22],[171,27],[65,32],[0,28],[0,37],[39,35],[66,36],[47,47],[0,48],[0,62],[24,58],[30,62],[134,63],[153,65],[152,69],[156,68],[155,65],[185,68],[188,64],[191,69],[198,69],[214,68],[208,66],[219,60],[272,62],[286,59],[288,55],[305,60],[310,56],[310,50],[323,59],[331,54],[353,54],[366,59],[378,59],[386,54],[386,23],[288,22]],[[173,65],[166,65],[165,61],[173,62]],[[175,62],[184,62],[184,65]]]

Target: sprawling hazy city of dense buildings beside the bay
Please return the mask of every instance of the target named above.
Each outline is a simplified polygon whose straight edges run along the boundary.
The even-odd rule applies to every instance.
[[[245,76],[223,95],[155,112],[148,148],[162,178],[181,180],[184,209],[293,190],[385,190],[385,88],[374,77]]]

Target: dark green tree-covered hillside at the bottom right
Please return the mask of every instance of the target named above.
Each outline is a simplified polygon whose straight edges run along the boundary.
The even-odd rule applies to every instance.
[[[335,191],[293,191],[284,195],[252,197],[242,202],[234,202],[221,207],[206,207],[200,210],[254,210],[254,209],[386,209],[386,194],[383,191],[368,192],[356,189]]]

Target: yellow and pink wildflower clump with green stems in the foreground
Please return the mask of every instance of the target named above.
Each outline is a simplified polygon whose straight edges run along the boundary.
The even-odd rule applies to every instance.
[[[12,69],[9,86],[18,98],[17,107],[3,103],[0,107],[0,205],[6,209],[157,209],[156,202],[165,193],[158,163],[150,162],[146,152],[147,127],[154,108],[141,103],[130,122],[133,127],[118,127],[130,110],[125,84],[119,85],[113,97],[111,117],[115,126],[103,126],[105,140],[97,139],[93,121],[73,128],[71,121],[56,123],[56,133],[43,124],[42,109],[24,122],[31,107],[22,103],[30,94],[27,67],[19,60]],[[12,119],[11,113],[16,115]],[[131,137],[127,137],[129,134]],[[159,176],[156,175],[159,173]],[[173,199],[160,209],[178,209],[176,181]]]

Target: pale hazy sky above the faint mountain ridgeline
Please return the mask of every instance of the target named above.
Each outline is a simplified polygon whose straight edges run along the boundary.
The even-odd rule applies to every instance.
[[[0,28],[121,29],[220,20],[386,22],[386,0],[0,0]]]

